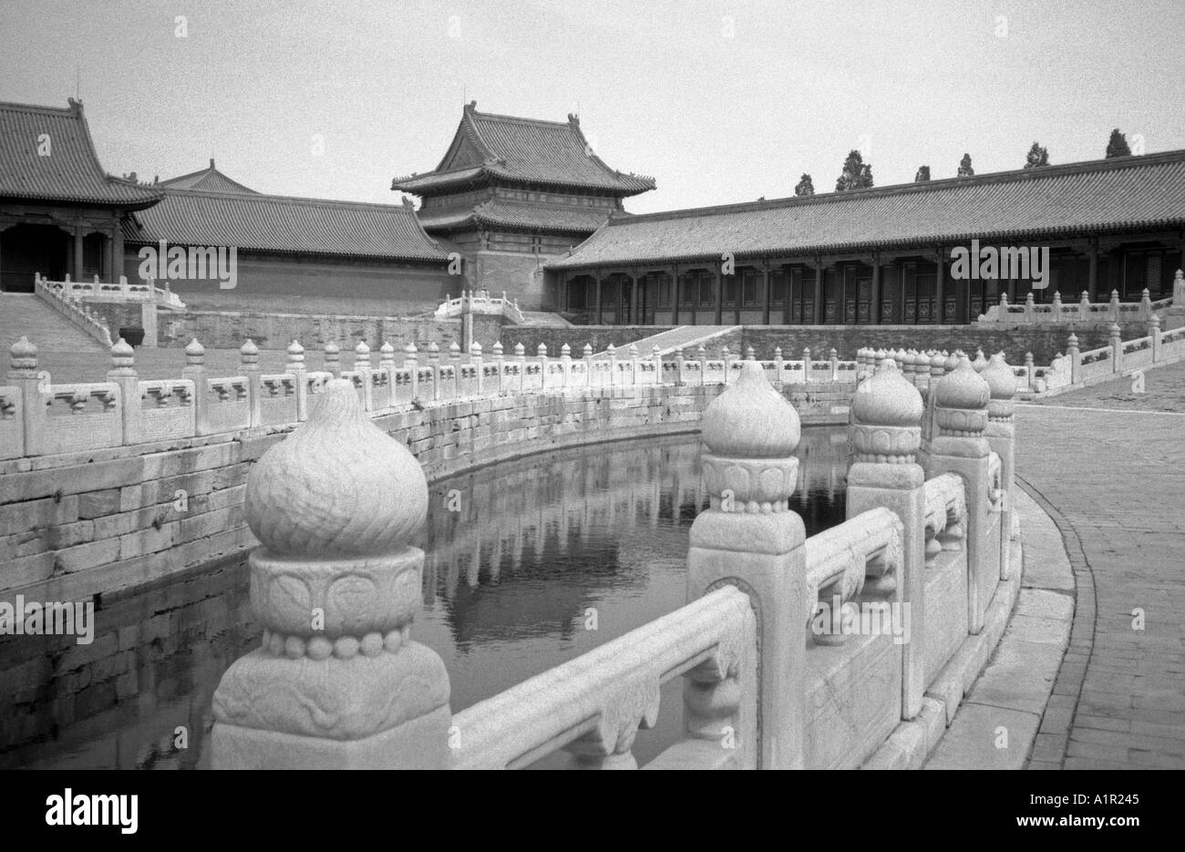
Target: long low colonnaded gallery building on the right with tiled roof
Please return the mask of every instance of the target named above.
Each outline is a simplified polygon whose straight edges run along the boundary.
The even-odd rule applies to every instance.
[[[1030,278],[954,280],[952,250],[1048,248],[1077,301],[1172,295],[1185,150],[645,216],[547,263],[551,306],[613,325],[965,323]]]

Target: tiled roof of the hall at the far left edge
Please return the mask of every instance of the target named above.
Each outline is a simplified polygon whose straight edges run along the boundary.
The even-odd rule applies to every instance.
[[[81,101],[65,108],[0,103],[0,198],[136,210],[160,197],[103,172]]]

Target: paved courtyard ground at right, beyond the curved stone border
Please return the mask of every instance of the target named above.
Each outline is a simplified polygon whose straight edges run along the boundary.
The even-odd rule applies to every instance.
[[[1185,768],[1185,364],[1130,386],[1017,410],[1017,472],[1062,532],[1077,594],[1033,769]]]

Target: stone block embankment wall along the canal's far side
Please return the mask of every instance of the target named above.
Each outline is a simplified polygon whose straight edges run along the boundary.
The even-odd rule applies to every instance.
[[[597,441],[696,431],[723,385],[589,387],[429,403],[376,417],[429,479]],[[805,423],[845,422],[850,383],[787,385]],[[252,546],[251,463],[287,429],[0,462],[0,596],[73,601]]]

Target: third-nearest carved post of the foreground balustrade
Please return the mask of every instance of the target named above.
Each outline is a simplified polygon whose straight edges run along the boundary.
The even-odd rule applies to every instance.
[[[902,645],[901,716],[912,719],[925,694],[925,472],[917,463],[922,443],[922,395],[891,359],[856,389],[848,436],[847,517],[884,506],[904,527],[902,570],[893,601],[909,610],[909,641]]]

